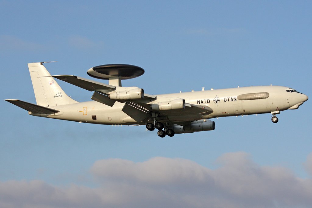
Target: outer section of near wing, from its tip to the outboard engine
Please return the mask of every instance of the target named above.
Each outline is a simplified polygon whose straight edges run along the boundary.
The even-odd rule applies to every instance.
[[[72,85],[76,85],[77,87],[81,87],[85,90],[89,91],[101,91],[103,93],[108,93],[115,90],[115,86],[104,84],[101,82],[92,81],[89,79],[85,79],[82,77],[77,77],[73,75],[54,75],[56,79],[60,79],[64,82],[68,82]]]

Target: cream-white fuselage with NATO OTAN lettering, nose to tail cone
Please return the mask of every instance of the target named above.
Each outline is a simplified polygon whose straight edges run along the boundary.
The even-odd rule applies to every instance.
[[[212,108],[213,112],[209,115],[193,116],[193,120],[199,120],[296,109],[308,99],[306,95],[298,92],[286,92],[287,89],[290,88],[281,86],[257,86],[161,94],[157,95],[157,100],[145,101],[145,103],[153,104],[166,101],[168,98],[183,98],[186,103],[209,106]],[[269,96],[267,98],[253,100],[238,99],[238,96],[249,93],[256,93],[260,95],[268,93]],[[124,105],[125,103],[115,102],[114,106],[110,107],[100,102],[88,101],[51,107],[60,111],[55,114],[29,114],[33,116],[96,124],[144,124],[134,121],[131,117],[121,111]],[[189,117],[189,115],[185,116]],[[183,115],[181,115],[181,120],[188,119],[183,119]],[[170,122],[170,117],[167,118],[167,121]]]

